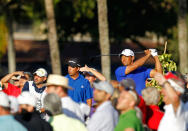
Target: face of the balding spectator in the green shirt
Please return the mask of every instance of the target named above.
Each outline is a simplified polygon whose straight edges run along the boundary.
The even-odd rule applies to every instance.
[[[132,106],[132,96],[125,90],[120,93],[116,108],[120,111],[129,109]]]

